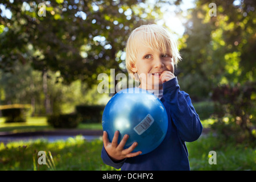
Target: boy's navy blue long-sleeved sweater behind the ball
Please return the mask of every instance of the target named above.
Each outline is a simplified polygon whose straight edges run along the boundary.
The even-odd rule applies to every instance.
[[[177,78],[163,84],[163,97],[166,107],[168,130],[163,142],[148,154],[113,162],[102,147],[103,162],[121,170],[189,170],[188,150],[185,142],[193,142],[200,137],[203,126],[189,95],[180,91]]]

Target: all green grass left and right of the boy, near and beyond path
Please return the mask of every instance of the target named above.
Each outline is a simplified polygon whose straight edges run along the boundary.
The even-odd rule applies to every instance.
[[[3,123],[3,121],[0,118],[0,131],[52,129],[47,125],[46,118],[28,118],[26,123]],[[202,121],[204,128],[209,127],[213,122],[212,119]],[[102,127],[101,123],[81,124],[79,129],[101,130]],[[211,133],[186,144],[191,170],[256,170],[256,148],[246,144],[224,143]],[[102,162],[101,148],[101,139],[89,142],[81,136],[56,142],[38,139],[0,143],[0,170],[114,170]],[[46,151],[48,167],[38,164],[39,151]],[[210,151],[216,151],[217,164],[209,164]]]

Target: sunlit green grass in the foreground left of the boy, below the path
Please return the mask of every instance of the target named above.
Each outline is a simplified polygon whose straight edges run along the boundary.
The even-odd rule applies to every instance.
[[[81,136],[53,143],[43,139],[6,145],[0,143],[0,170],[51,170],[46,165],[38,164],[39,151],[51,151],[55,168],[60,171],[113,169],[100,159],[101,148],[100,140],[88,142]]]

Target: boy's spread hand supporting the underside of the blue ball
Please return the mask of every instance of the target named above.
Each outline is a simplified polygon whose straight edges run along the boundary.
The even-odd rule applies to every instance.
[[[115,131],[112,143],[109,142],[108,133],[106,131],[103,132],[102,136],[105,150],[112,160],[117,161],[125,158],[132,158],[142,153],[141,151],[132,152],[134,148],[137,147],[137,142],[134,142],[129,148],[123,149],[129,135],[126,134],[119,144],[117,143],[118,135],[119,131]]]

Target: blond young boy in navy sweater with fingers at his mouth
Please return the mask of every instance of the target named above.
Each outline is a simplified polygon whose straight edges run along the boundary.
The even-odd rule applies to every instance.
[[[129,135],[118,144],[116,131],[110,143],[104,131],[101,158],[105,164],[135,171],[190,169],[185,142],[199,138],[203,126],[189,95],[180,91],[174,76],[174,65],[179,59],[176,42],[166,28],[150,24],[131,32],[126,45],[127,71],[139,77],[139,88],[157,93],[167,110],[168,129],[159,147],[144,155],[140,155],[141,151],[133,152],[137,142],[123,149]]]

